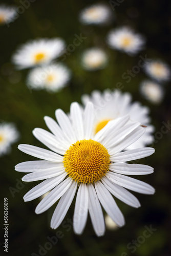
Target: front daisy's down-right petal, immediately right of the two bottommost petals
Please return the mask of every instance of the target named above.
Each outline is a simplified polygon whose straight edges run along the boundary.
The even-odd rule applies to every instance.
[[[95,189],[98,199],[107,214],[118,226],[123,226],[125,221],[122,212],[120,211],[108,189],[105,188],[101,181],[95,182]]]

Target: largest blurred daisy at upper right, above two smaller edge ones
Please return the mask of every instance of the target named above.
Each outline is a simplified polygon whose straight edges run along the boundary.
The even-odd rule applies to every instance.
[[[141,34],[135,33],[132,29],[121,27],[112,30],[107,37],[109,46],[127,54],[136,54],[145,44],[145,38]]]

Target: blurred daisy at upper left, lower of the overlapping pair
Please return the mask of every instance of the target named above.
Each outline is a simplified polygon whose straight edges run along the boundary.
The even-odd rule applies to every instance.
[[[35,90],[46,89],[50,92],[57,92],[66,86],[70,77],[71,72],[65,65],[53,63],[49,66],[37,67],[31,70],[27,85]]]

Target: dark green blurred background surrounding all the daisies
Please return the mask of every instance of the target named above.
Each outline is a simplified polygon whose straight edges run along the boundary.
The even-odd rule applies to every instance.
[[[19,1],[5,1],[4,3],[21,5]],[[47,237],[55,236],[57,230],[62,231],[63,238],[59,239],[52,249],[48,250],[47,255],[170,255],[170,132],[164,134],[160,140],[156,137],[156,143],[153,145],[156,153],[140,161],[140,163],[153,166],[155,168],[154,174],[146,177],[135,177],[153,185],[156,188],[156,194],[154,196],[137,194],[136,196],[142,205],[139,209],[131,208],[117,200],[125,216],[126,224],[114,231],[106,230],[105,236],[102,238],[95,236],[90,219],[88,219],[82,236],[76,236],[71,225],[60,226],[57,230],[52,230],[50,219],[55,206],[44,214],[36,215],[34,209],[39,199],[27,203],[23,200],[27,191],[39,182],[23,185],[21,183],[18,189],[18,181],[21,181],[24,175],[15,172],[14,166],[19,162],[35,160],[35,158],[20,152],[17,149],[17,144],[26,143],[42,146],[33,137],[32,130],[35,127],[46,129],[43,120],[45,115],[54,117],[57,108],[68,112],[71,102],[80,102],[83,93],[91,93],[93,89],[102,91],[115,88],[117,82],[122,82],[123,91],[131,92],[134,101],[138,100],[149,106],[156,132],[160,132],[163,121],[167,123],[170,119],[169,83],[163,86],[165,90],[163,102],[159,105],[153,105],[143,99],[139,92],[139,83],[146,78],[142,71],[132,78],[130,83],[126,83],[126,80],[121,78],[127,69],[132,69],[137,65],[139,55],[147,54],[149,58],[161,58],[170,64],[170,1],[125,0],[120,6],[116,6],[116,19],[111,26],[82,26],[77,19],[78,13],[82,8],[92,3],[95,2],[36,0],[23,14],[19,15],[14,23],[10,23],[9,27],[6,25],[0,27],[1,120],[16,123],[21,135],[18,143],[12,146],[12,153],[1,158],[1,174],[3,176],[1,179],[1,203],[3,205],[4,197],[7,197],[9,201],[8,255],[27,256],[33,252],[39,254],[39,245],[44,247],[45,243],[48,242]],[[109,2],[106,1],[106,4],[109,5]],[[106,45],[105,38],[108,31],[121,25],[130,25],[147,37],[146,49],[135,57],[113,51]],[[11,55],[17,46],[29,39],[56,36],[65,39],[69,45],[72,44],[74,35],[79,35],[81,32],[87,39],[70,56],[67,56],[65,61],[73,72],[69,86],[54,94],[45,91],[30,91],[25,84],[28,70],[16,71],[10,62]],[[109,54],[109,64],[101,71],[87,72],[80,66],[81,52],[92,46],[102,47]],[[17,82],[19,77],[21,79]],[[9,187],[18,189],[13,196]],[[72,219],[73,209],[74,202],[65,221],[67,218]],[[3,224],[3,206],[1,220]],[[136,251],[132,253],[133,248],[127,248],[127,244],[132,243],[132,240],[137,240],[143,234],[145,226],[149,227],[150,225],[157,230],[151,237],[146,238],[144,243],[138,244]],[[3,234],[3,225],[1,230]],[[1,241],[4,242],[4,238]]]

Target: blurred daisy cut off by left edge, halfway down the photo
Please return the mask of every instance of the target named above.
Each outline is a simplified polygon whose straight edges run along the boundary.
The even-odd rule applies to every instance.
[[[0,123],[0,156],[11,151],[11,144],[19,138],[19,133],[13,123]]]

